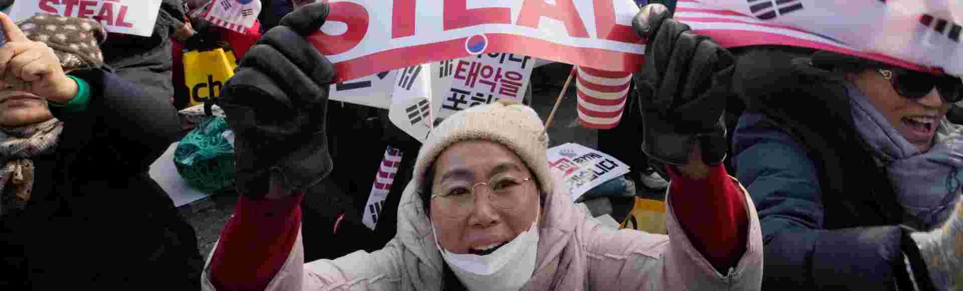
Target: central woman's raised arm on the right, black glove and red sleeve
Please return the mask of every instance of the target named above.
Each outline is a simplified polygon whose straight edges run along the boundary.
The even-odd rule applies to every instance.
[[[726,274],[752,237],[745,194],[722,166],[728,147],[721,117],[735,62],[670,14],[662,4],[649,4],[633,21],[649,40],[635,75],[642,150],[667,166],[669,204],[693,247]]]

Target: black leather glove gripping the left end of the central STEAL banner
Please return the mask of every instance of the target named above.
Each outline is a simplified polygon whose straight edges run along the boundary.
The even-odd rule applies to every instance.
[[[285,15],[247,51],[216,103],[235,132],[238,192],[263,198],[269,176],[304,192],[331,172],[325,116],[334,66],[305,36],[325,23],[327,3]]]

